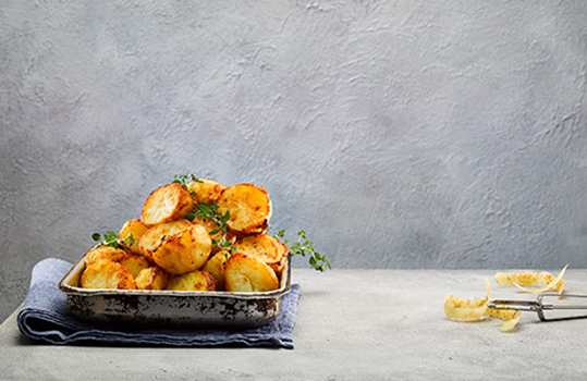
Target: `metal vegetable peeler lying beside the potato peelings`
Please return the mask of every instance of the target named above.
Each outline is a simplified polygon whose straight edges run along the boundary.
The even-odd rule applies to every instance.
[[[487,307],[534,311],[542,321],[583,319],[587,318],[587,295],[540,294],[536,300],[490,300]]]

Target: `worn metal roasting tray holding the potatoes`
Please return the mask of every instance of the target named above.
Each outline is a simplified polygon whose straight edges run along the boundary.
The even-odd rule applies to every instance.
[[[288,258],[280,287],[262,293],[227,291],[88,290],[80,287],[85,255],[59,282],[68,307],[80,320],[129,327],[255,328],[269,324],[291,286]]]

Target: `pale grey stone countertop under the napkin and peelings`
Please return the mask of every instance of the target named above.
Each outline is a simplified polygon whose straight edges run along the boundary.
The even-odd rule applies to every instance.
[[[558,270],[552,270],[553,273]],[[54,346],[21,335],[14,311],[0,325],[2,380],[584,380],[587,319],[542,322],[448,319],[447,295],[529,298],[499,287],[494,270],[294,269],[302,284],[295,349]],[[565,291],[587,294],[587,270]]]

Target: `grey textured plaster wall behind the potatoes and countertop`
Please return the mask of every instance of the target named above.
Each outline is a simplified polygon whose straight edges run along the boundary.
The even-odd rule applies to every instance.
[[[337,268],[586,267],[586,58],[585,1],[2,0],[0,320],[182,172]]]

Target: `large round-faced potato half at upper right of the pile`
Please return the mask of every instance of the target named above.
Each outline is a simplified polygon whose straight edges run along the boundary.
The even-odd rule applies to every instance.
[[[218,210],[230,211],[227,225],[237,234],[262,233],[269,226],[271,200],[267,190],[255,184],[231,185],[220,194]]]

